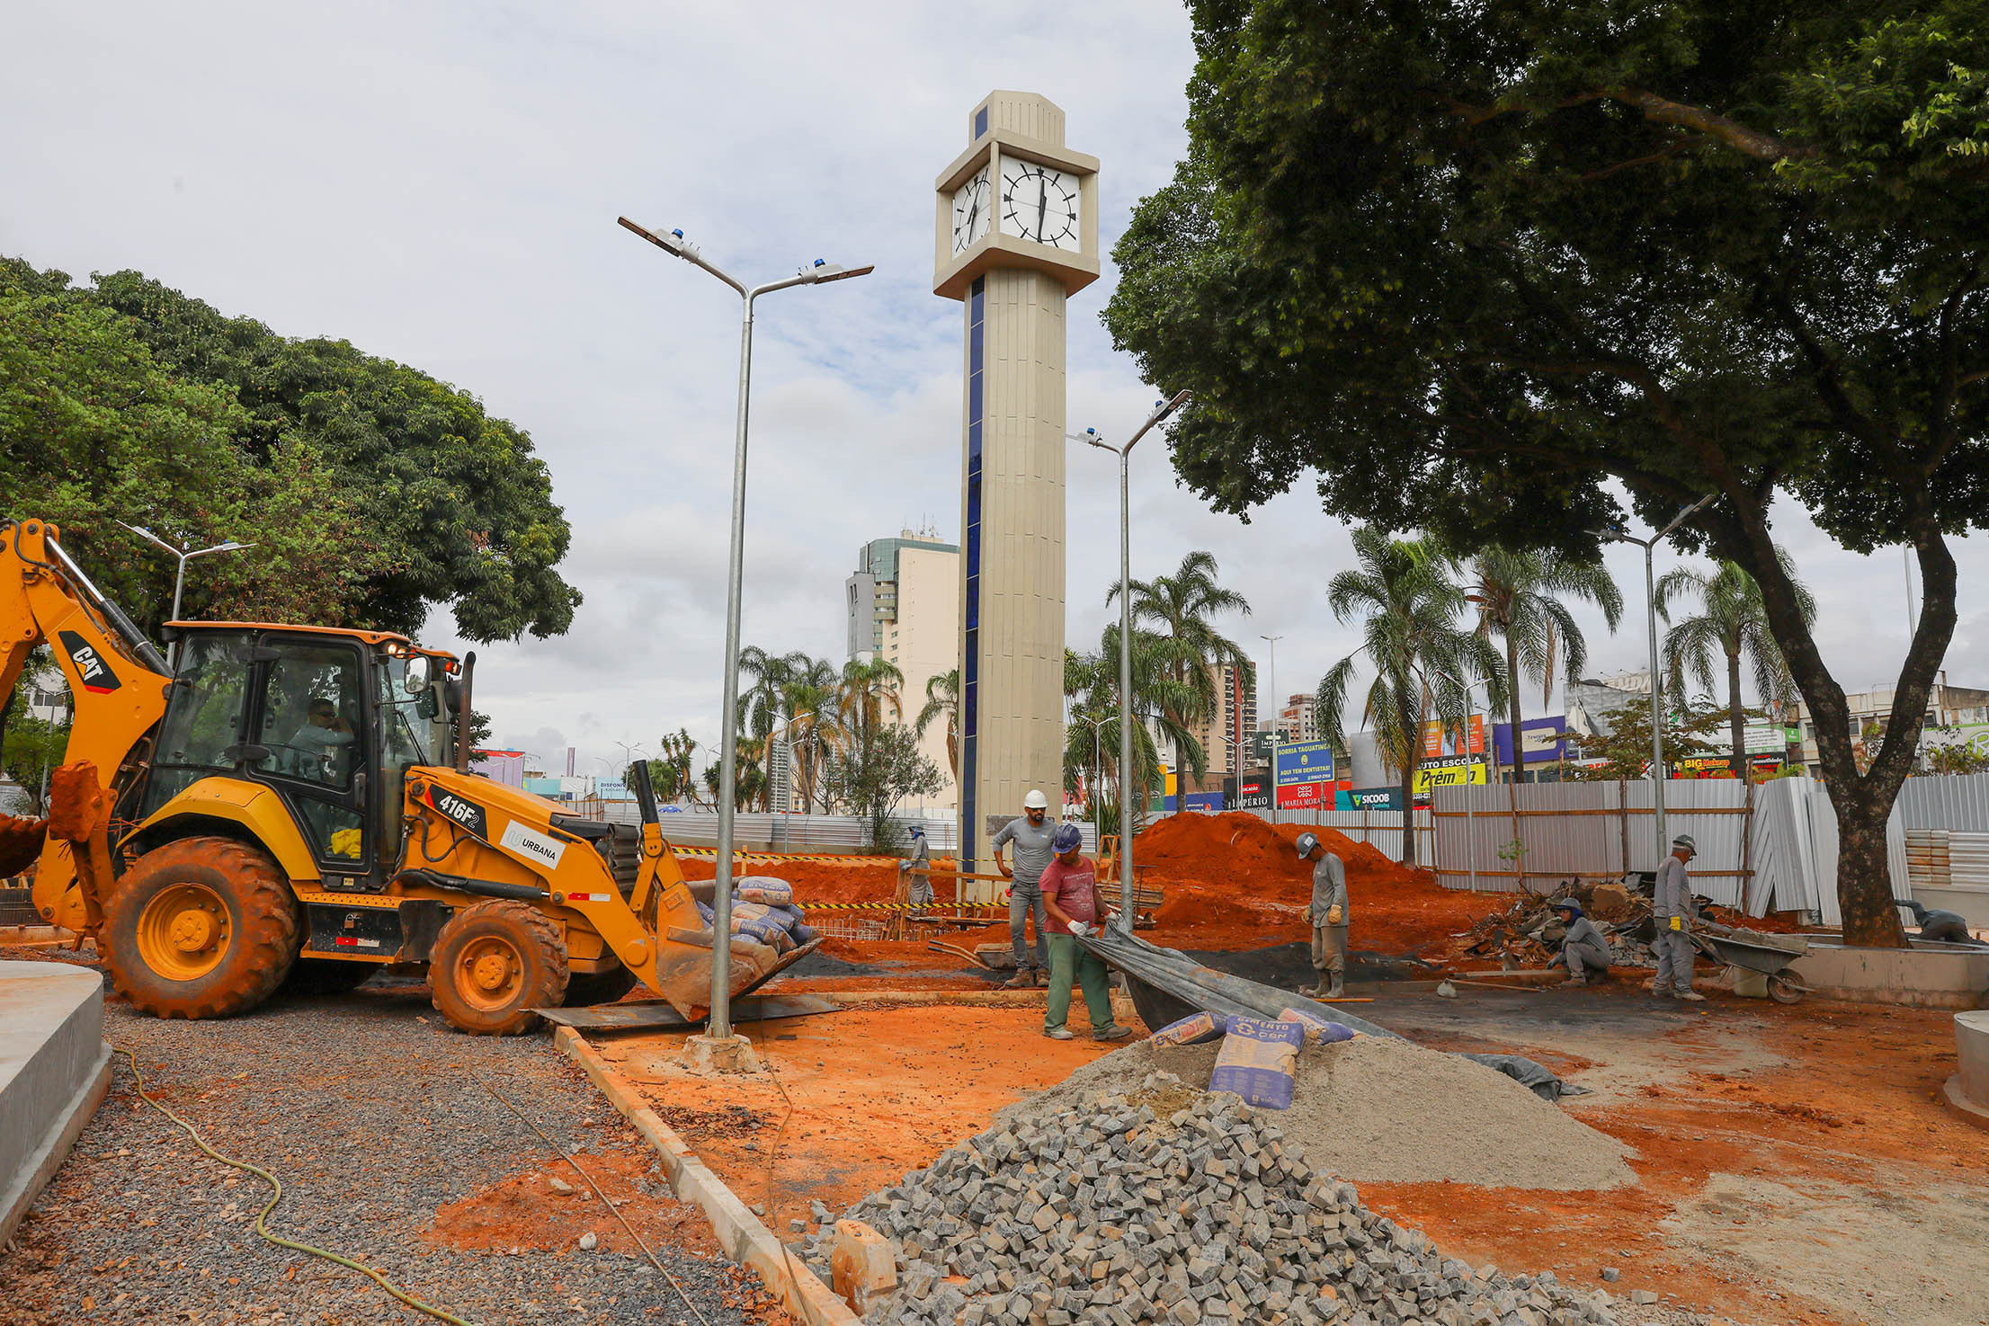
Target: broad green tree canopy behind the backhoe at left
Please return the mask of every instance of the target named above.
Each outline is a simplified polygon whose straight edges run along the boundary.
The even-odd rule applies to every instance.
[[[573,622],[545,463],[467,392],[137,272],[76,286],[16,258],[0,258],[0,509],[88,541],[145,626],[173,561],[117,521],[257,543],[197,563],[189,614],[414,632],[452,604],[471,640]]]

